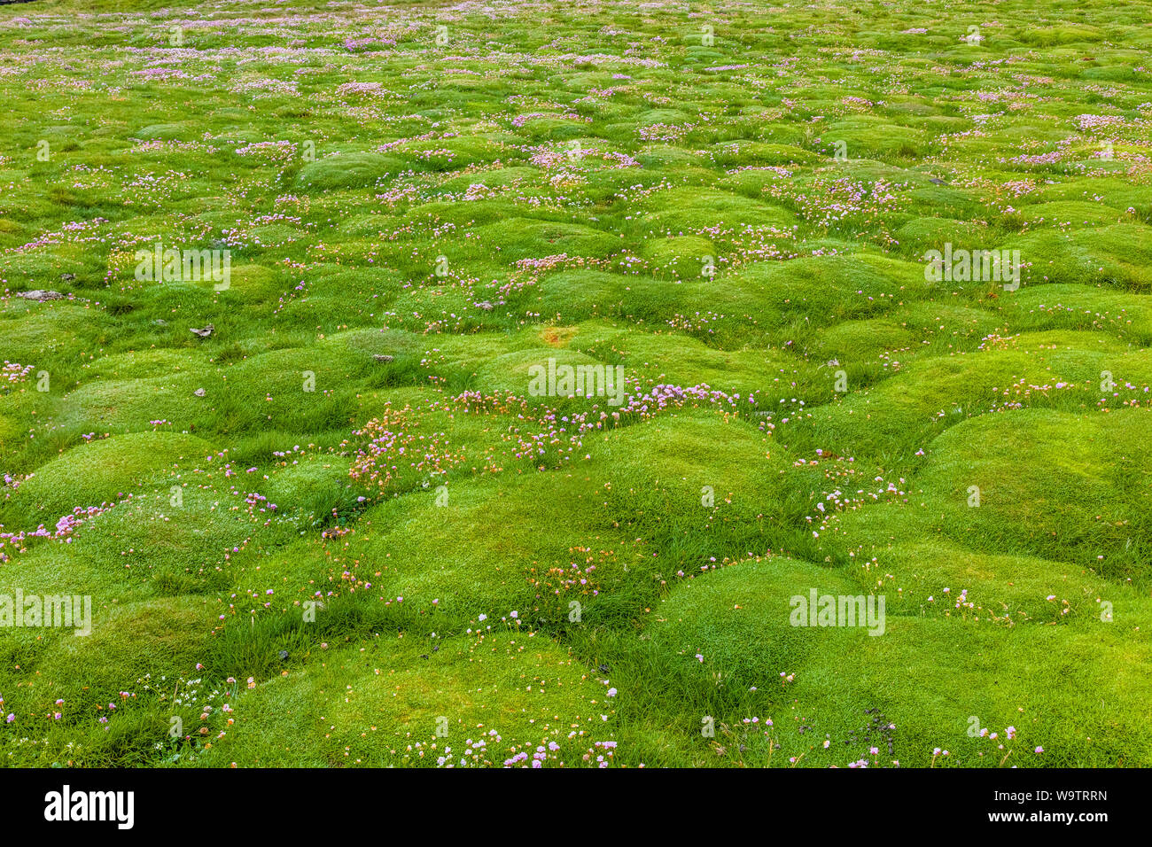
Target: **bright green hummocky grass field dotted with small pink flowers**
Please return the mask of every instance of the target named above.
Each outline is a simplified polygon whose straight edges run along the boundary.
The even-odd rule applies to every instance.
[[[0,762],[1152,765],[1130,7],[127,6],[0,7]]]

